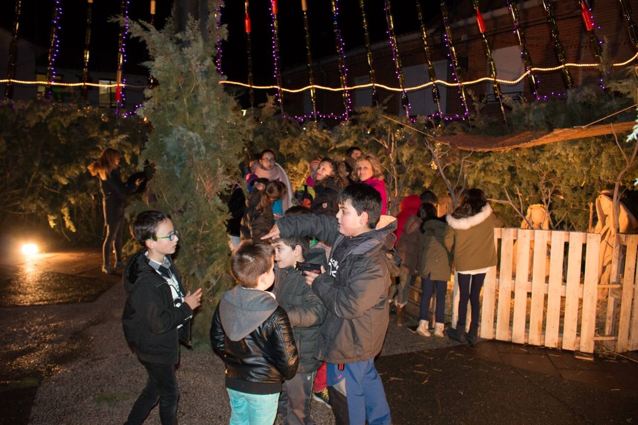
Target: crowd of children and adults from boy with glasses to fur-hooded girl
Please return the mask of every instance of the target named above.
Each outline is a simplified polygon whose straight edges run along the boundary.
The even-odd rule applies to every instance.
[[[375,368],[390,308],[396,308],[398,326],[409,321],[408,285],[419,278],[416,332],[431,336],[434,328],[442,337],[454,261],[461,296],[456,329],[448,334],[476,344],[479,294],[487,269],[496,265],[493,229],[502,222],[480,189],[467,191],[445,217],[431,191],[405,198],[397,218],[385,215],[378,160],[356,147],[343,162],[316,159],[304,194],[295,195],[297,206],[290,206],[290,182],[274,153],[265,150],[258,161],[249,171],[265,165],[276,178],[249,173],[252,191],[244,205],[238,188],[232,194],[232,203],[243,207],[228,227],[237,285],[221,296],[210,330],[212,347],[225,361],[230,424],[271,425],[277,414],[283,424],[313,424],[313,398],[332,408],[337,425],[390,424]],[[201,291],[185,292],[179,281],[171,259],[179,234],[170,217],[143,212],[131,229],[142,250],[124,273],[122,324],[149,377],[127,423],[144,421],[159,400],[162,424],[172,424],[178,345],[188,343]],[[433,289],[436,322],[429,326]]]

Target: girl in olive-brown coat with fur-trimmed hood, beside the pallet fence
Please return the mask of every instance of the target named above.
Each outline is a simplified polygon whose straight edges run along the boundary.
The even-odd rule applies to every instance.
[[[476,345],[479,333],[480,290],[488,268],[496,266],[494,227],[503,221],[494,215],[485,193],[470,189],[454,213],[445,216],[448,229],[445,247],[454,256],[454,268],[459,279],[459,320],[456,329],[447,330],[450,338]],[[465,332],[468,299],[472,307],[470,333]]]

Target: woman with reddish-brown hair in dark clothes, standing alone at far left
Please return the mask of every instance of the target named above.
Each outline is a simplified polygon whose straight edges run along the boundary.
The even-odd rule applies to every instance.
[[[115,269],[124,268],[122,263],[124,201],[126,201],[126,195],[135,192],[143,181],[142,178],[138,178],[133,184],[122,183],[119,168],[117,168],[119,161],[119,151],[106,148],[97,161],[87,166],[92,176],[100,178],[104,225],[107,227],[107,234],[102,245],[102,272],[108,275],[113,275]],[[112,250],[115,251],[115,268],[110,264]]]

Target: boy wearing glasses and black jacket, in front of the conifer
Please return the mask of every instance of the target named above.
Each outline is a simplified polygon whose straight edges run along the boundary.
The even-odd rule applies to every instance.
[[[184,291],[171,260],[179,241],[170,216],[144,211],[135,217],[131,233],[142,249],[124,269],[126,303],[122,328],[128,345],[148,373],[126,424],[141,424],[159,400],[161,423],[173,424],[179,390],[175,364],[179,341],[190,342],[190,319],[200,305],[202,289]]]

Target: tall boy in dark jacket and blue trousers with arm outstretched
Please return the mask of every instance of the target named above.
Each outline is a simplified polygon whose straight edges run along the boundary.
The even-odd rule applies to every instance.
[[[381,215],[381,195],[357,183],[339,192],[336,217],[282,217],[264,238],[316,236],[332,245],[328,270],[304,272],[328,315],[317,342],[327,362],[328,392],[336,423],[390,424],[390,408],[375,368],[388,328],[388,289],[398,274],[396,219]],[[347,396],[347,397],[346,397]]]

